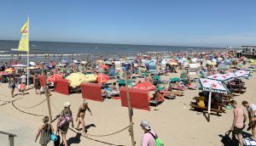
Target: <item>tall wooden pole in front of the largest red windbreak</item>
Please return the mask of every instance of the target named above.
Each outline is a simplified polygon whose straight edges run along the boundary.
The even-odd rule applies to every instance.
[[[131,115],[131,103],[130,103],[130,95],[129,95],[129,90],[128,90],[128,82],[127,82],[126,70],[125,70],[125,89],[126,89],[126,97],[127,97],[127,104],[128,104],[128,114],[129,114],[129,120],[130,120],[131,145],[135,146],[134,133],[133,133],[133,123],[132,123],[132,115]]]

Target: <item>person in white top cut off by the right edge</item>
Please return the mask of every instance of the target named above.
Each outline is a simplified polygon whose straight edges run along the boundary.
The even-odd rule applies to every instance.
[[[249,127],[247,128],[247,131],[252,128],[253,139],[256,140],[256,105],[249,104],[247,101],[242,101],[241,104],[247,108],[247,113],[249,117]]]

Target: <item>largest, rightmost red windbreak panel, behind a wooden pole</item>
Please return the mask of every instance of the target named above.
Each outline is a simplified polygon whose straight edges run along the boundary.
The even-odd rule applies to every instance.
[[[150,110],[148,91],[143,89],[129,88],[131,108],[139,110]],[[120,87],[121,105],[128,106],[125,87]]]

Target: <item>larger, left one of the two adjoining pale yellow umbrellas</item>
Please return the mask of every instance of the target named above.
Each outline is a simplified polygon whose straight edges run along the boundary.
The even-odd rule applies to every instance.
[[[70,87],[79,87],[86,80],[84,74],[81,72],[72,73],[66,79],[70,81]]]

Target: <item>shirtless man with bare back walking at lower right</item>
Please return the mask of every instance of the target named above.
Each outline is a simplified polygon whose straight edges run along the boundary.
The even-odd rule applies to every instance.
[[[231,100],[230,104],[234,109],[234,120],[230,128],[230,131],[232,131],[235,134],[236,138],[238,138],[239,140],[240,146],[242,146],[243,142],[241,132],[245,126],[244,123],[247,121],[247,115],[245,115],[244,111],[241,109],[241,106],[239,106],[235,100]]]

